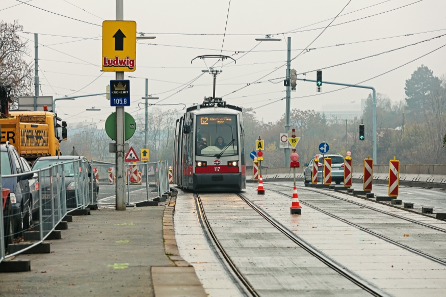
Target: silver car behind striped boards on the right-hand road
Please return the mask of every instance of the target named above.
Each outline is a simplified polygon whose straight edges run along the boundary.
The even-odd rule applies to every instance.
[[[318,182],[322,181],[322,174],[324,170],[324,158],[331,158],[331,181],[336,184],[344,182],[344,157],[340,154],[327,154],[322,157],[321,154],[317,154],[312,157],[308,163],[304,164],[304,182],[311,182],[311,170],[313,167],[314,158],[319,158],[318,163]]]

